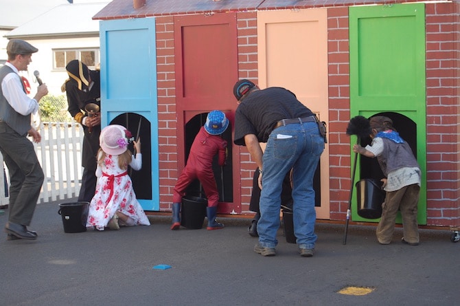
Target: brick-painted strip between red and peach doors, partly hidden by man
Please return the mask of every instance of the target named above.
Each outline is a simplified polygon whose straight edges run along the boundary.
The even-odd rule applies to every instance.
[[[238,35],[238,78],[247,78],[257,84],[257,14],[241,12],[237,14]],[[241,204],[242,214],[249,210],[253,176],[256,168],[245,146],[240,149]]]

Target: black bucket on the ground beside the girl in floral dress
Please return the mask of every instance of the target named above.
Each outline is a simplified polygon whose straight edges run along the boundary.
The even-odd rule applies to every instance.
[[[89,202],[59,204],[64,232],[86,232]]]

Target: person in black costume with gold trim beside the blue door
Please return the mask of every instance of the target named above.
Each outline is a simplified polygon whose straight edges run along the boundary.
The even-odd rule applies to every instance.
[[[99,135],[101,133],[100,72],[90,70],[87,65],[78,60],[70,61],[65,69],[69,79],[62,85],[62,91],[67,91],[69,113],[76,122],[82,124],[84,131],[82,149],[84,170],[78,201],[90,202],[96,188],[96,155],[97,150],[99,150]],[[93,111],[89,111],[89,109]]]

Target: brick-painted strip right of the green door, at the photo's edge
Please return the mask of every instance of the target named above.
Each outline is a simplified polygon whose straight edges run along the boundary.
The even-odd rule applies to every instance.
[[[458,3],[427,3],[426,177],[430,226],[460,225],[458,72]]]

